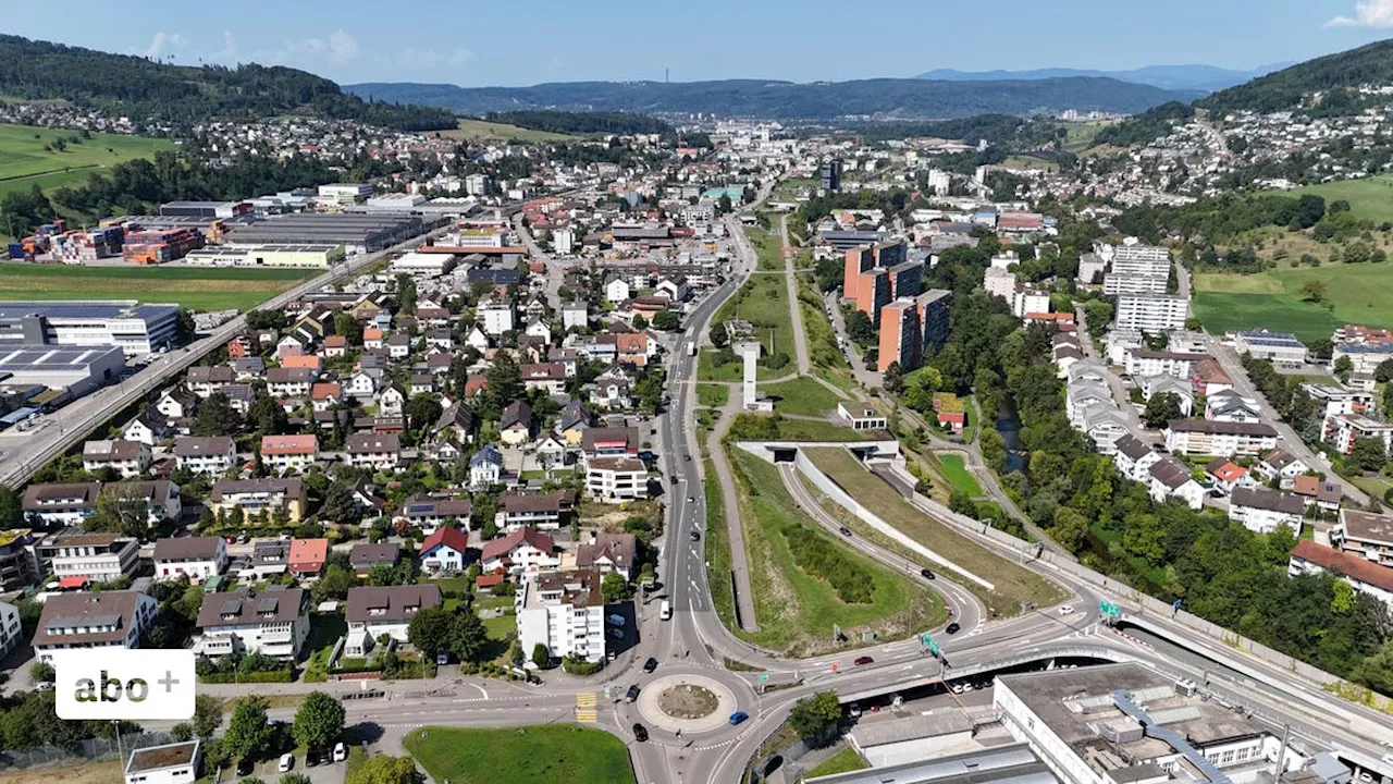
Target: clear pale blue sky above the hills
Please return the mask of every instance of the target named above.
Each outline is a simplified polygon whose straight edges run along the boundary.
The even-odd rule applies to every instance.
[[[664,8],[663,6],[678,6]],[[986,8],[990,8],[988,13]],[[4,32],[340,82],[911,77],[929,68],[1251,68],[1393,36],[1393,0],[67,0]]]

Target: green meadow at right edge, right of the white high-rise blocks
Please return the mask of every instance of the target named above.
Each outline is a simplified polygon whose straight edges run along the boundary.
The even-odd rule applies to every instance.
[[[1325,283],[1325,301],[1301,289]],[[1326,307],[1329,306],[1329,307]],[[1393,265],[1334,264],[1276,268],[1259,275],[1195,276],[1194,310],[1211,332],[1266,326],[1302,339],[1329,338],[1341,324],[1393,328]]]

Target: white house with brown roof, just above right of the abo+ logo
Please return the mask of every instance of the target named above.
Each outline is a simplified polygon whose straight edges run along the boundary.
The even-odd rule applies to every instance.
[[[295,658],[309,636],[309,591],[210,593],[203,596],[195,626],[194,651],[203,656],[238,651]]]

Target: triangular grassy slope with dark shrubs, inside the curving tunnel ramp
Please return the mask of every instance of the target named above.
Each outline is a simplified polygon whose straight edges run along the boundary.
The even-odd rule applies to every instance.
[[[900,639],[943,621],[936,594],[823,533],[798,509],[779,469],[740,449],[729,455],[759,624],[759,632],[741,636],[790,656],[811,656],[859,644],[865,631]],[[825,572],[832,579],[820,576]],[[843,601],[832,580],[846,590],[847,575],[853,585],[868,586],[865,601]],[[833,643],[833,625],[851,642]]]

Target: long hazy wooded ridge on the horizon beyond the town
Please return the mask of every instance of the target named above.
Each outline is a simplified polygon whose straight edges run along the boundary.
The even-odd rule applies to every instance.
[[[937,120],[974,114],[1036,114],[1075,109],[1133,114],[1195,91],[1102,77],[931,81],[862,80],[795,84],[776,80],[705,82],[550,82],[532,86],[462,88],[443,84],[369,82],[344,91],[375,100],[440,106],[457,114],[513,110],[708,113],[770,120],[832,120],[846,116]]]

